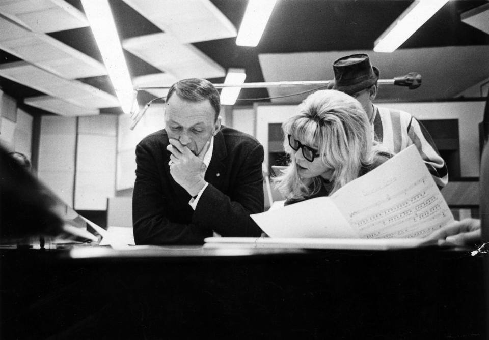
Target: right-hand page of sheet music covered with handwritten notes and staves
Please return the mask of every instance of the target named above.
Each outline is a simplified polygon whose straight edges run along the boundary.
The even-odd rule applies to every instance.
[[[453,221],[414,145],[331,198],[362,238],[422,238]]]

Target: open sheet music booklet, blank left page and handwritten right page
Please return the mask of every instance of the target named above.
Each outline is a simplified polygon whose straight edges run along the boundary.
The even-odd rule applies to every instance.
[[[331,197],[251,215],[270,237],[423,238],[453,221],[410,146]]]

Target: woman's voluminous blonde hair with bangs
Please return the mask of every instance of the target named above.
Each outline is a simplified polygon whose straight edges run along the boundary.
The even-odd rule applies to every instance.
[[[284,147],[290,163],[274,178],[277,189],[286,198],[304,198],[321,188],[320,176],[303,180],[297,172],[295,150],[288,135],[309,146],[317,146],[319,158],[333,169],[330,194],[357,178],[362,167],[377,161],[379,143],[373,141],[370,122],[362,105],[337,90],[320,90],[309,95],[298,106],[298,113],[282,124]],[[311,186],[312,184],[312,186]]]

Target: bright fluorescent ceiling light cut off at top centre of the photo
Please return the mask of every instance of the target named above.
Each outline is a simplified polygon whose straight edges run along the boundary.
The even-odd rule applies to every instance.
[[[256,46],[260,42],[277,0],[249,0],[239,27],[236,45]]]

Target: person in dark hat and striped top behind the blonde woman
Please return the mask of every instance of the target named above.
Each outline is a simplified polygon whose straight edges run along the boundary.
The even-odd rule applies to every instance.
[[[379,71],[370,64],[367,54],[352,54],[333,63],[335,79],[328,84],[356,98],[362,104],[376,141],[390,152],[398,153],[415,144],[439,188],[448,182],[448,170],[436,145],[422,123],[410,113],[377,107],[372,103],[377,95]]]

